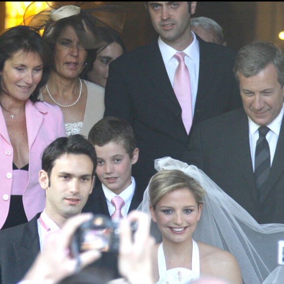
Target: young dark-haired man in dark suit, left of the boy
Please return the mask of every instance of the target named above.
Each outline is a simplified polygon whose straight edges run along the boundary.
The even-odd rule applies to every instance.
[[[81,213],[92,192],[96,168],[93,145],[81,135],[61,137],[42,156],[39,183],[46,191],[46,208],[29,222],[0,231],[0,283],[15,284],[43,250],[48,235]],[[116,269],[116,259],[103,256],[95,265]],[[55,272],[56,273],[56,272]],[[114,271],[116,277],[117,271]]]

